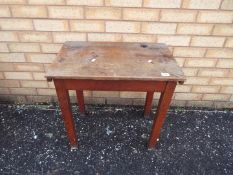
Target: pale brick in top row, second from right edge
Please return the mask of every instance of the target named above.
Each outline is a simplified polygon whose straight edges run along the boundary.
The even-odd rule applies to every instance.
[[[221,0],[184,0],[183,8],[189,9],[218,9]]]

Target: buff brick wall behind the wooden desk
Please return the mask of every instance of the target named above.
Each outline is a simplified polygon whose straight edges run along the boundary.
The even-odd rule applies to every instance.
[[[0,0],[0,99],[56,100],[44,69],[64,41],[162,42],[187,76],[173,105],[233,107],[232,22],[233,0]],[[143,104],[145,93],[85,96]]]

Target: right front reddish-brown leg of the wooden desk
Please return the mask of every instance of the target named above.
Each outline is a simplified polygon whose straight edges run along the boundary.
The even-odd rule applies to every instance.
[[[153,148],[160,135],[160,129],[163,126],[167,110],[169,108],[173,92],[176,87],[176,82],[167,82],[164,92],[161,93],[158,109],[154,118],[154,122],[151,129],[148,148]]]

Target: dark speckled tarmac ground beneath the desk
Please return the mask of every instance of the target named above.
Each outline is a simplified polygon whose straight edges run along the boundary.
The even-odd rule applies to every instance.
[[[154,150],[135,106],[73,106],[71,151],[54,105],[0,105],[0,174],[233,174],[233,111],[173,108]]]

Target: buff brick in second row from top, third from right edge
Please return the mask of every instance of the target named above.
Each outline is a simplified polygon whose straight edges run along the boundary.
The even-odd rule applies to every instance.
[[[124,8],[123,19],[136,21],[158,21],[159,10],[144,8]]]

